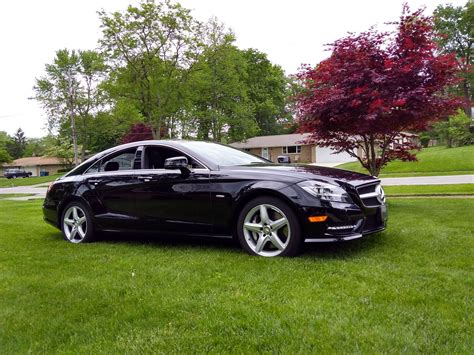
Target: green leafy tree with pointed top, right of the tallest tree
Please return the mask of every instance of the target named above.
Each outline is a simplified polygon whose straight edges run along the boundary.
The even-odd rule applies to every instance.
[[[247,96],[247,63],[234,35],[216,19],[205,26],[205,48],[193,75],[193,115],[198,138],[239,141],[255,136],[258,125]]]

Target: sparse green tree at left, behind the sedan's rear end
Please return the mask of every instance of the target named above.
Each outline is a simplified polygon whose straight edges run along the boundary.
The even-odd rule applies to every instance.
[[[102,105],[103,60],[94,51],[63,49],[45,69],[46,75],[36,79],[35,98],[48,115],[49,132],[61,130],[72,140],[77,165],[78,147],[84,159],[91,119]]]

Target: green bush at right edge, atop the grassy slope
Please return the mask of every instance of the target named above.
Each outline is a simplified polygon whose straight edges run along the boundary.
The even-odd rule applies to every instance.
[[[471,144],[473,135],[469,130],[471,119],[462,110],[447,120],[434,125],[435,132],[447,144],[448,148]]]

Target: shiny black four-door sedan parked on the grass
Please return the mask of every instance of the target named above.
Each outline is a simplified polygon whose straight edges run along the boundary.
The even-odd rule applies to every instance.
[[[260,256],[360,238],[385,229],[387,220],[374,177],[178,140],[93,156],[50,185],[43,213],[72,243],[98,232],[235,237]]]

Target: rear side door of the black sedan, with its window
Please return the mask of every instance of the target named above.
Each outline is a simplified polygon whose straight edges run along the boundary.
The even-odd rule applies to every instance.
[[[104,230],[138,229],[135,189],[135,161],[143,147],[124,149],[104,157],[86,172],[86,184],[93,195],[95,220]]]

